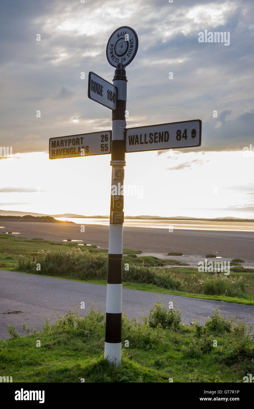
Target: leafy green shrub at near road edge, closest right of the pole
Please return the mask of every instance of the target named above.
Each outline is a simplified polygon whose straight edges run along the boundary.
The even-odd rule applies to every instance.
[[[167,310],[165,305],[161,304],[161,298],[155,306],[150,308],[149,326],[157,328],[161,326],[163,329],[178,330],[182,321],[181,311],[175,311],[173,308]]]

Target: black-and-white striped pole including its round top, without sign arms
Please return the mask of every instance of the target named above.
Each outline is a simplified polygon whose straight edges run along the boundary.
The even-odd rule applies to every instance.
[[[108,280],[106,303],[106,335],[104,358],[121,364],[121,320],[122,320],[122,263],[123,263],[123,223],[124,223],[124,166],[126,129],[127,77],[124,67],[137,52],[137,34],[130,27],[120,27],[110,37],[107,58],[116,67],[113,79],[117,87],[117,106],[112,111],[111,143],[111,199],[110,229],[108,245]]]

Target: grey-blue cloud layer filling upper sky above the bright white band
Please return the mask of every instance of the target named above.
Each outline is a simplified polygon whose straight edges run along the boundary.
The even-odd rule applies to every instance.
[[[253,2],[13,4],[4,1],[0,27],[0,146],[47,152],[49,137],[96,131],[99,124],[85,122],[90,119],[101,120],[101,128],[105,118],[110,123],[110,111],[88,99],[87,80],[92,70],[112,81],[105,49],[120,25],[130,25],[139,36],[137,55],[127,67],[127,127],[198,118],[202,145],[195,151],[233,151],[252,143]],[[204,29],[230,31],[230,45],[198,43]],[[40,119],[36,110],[41,110]],[[212,118],[214,110],[218,118]],[[81,118],[75,125],[74,115]]]

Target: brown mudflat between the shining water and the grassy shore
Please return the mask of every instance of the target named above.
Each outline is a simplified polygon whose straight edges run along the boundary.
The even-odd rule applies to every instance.
[[[97,245],[108,249],[109,226],[81,225],[74,223],[0,221],[0,234],[15,232],[13,236],[24,238],[40,237],[44,240],[82,240],[80,243]],[[151,254],[182,252],[184,255],[205,257],[213,253],[225,258],[243,258],[254,261],[253,231],[214,231],[124,227],[124,248],[142,250]]]

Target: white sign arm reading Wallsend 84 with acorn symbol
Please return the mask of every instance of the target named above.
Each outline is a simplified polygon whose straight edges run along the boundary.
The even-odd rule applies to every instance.
[[[201,121],[171,122],[125,130],[126,152],[192,148],[201,145]]]

